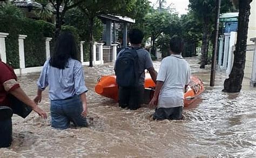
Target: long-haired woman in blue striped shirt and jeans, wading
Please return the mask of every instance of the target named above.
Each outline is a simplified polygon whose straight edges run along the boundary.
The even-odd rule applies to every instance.
[[[51,126],[58,129],[86,127],[87,102],[82,63],[77,58],[76,42],[71,32],[63,32],[57,39],[53,56],[46,60],[37,82],[35,102],[49,86]]]

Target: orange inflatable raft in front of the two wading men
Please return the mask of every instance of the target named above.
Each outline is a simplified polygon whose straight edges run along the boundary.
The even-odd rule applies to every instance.
[[[145,77],[145,89],[154,88],[156,85],[150,77],[149,73],[146,73]],[[197,98],[204,91],[204,84],[198,77],[192,76],[188,89],[184,94],[184,106],[190,105],[195,98]],[[97,85],[95,86],[95,92],[103,95],[107,98],[112,98],[118,101],[118,86],[116,83],[115,75],[102,76]],[[153,92],[153,91],[152,91]],[[153,95],[151,94],[150,97]]]

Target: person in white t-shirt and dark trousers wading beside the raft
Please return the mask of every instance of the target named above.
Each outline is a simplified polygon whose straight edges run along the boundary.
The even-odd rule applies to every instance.
[[[182,118],[184,92],[191,77],[190,66],[181,56],[183,47],[183,40],[173,37],[170,40],[171,56],[161,61],[156,90],[150,101],[151,107],[157,107],[154,120]]]

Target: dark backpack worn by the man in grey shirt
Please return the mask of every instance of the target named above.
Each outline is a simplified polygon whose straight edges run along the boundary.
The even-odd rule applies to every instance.
[[[139,83],[139,60],[137,50],[126,47],[116,60],[116,83],[120,87],[136,87]]]

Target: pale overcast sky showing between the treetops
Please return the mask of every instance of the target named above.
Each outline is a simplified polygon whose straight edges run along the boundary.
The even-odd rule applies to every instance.
[[[151,5],[156,4],[157,6],[159,6],[158,0],[149,1],[152,2]],[[166,0],[166,4],[167,6],[173,4],[172,8],[175,8],[179,15],[183,15],[187,13],[186,9],[188,9],[189,0]]]

